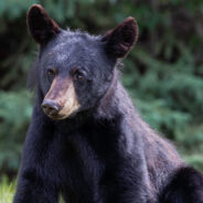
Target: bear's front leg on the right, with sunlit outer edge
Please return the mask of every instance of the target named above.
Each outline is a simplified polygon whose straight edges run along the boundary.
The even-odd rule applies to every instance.
[[[118,146],[111,150],[114,157],[108,158],[106,174],[101,180],[106,189],[106,202],[156,203],[150,190],[142,140],[132,131],[127,132],[118,136]]]

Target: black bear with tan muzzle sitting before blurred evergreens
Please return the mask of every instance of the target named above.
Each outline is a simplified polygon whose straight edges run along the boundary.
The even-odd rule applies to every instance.
[[[28,25],[40,44],[36,100],[14,203],[203,203],[202,174],[140,118],[119,82],[135,19],[93,36],[60,29],[34,4]]]

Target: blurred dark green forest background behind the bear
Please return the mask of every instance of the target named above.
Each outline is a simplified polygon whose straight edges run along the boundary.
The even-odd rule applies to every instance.
[[[17,174],[32,114],[26,75],[38,46],[25,19],[32,3],[63,29],[92,34],[136,18],[140,34],[124,61],[124,84],[145,120],[203,171],[202,0],[0,0],[0,175]]]

